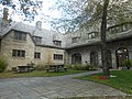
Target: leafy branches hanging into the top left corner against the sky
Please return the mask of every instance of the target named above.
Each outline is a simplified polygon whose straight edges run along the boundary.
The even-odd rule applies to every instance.
[[[43,1],[38,0],[0,0],[0,4],[12,9],[11,18],[13,14],[19,14],[23,15],[24,21],[30,22],[34,21],[35,15],[38,14],[38,10],[41,11],[42,3]]]

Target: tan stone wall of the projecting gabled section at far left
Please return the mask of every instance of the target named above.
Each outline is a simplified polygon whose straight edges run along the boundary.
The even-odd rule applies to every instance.
[[[14,40],[14,32],[8,33],[1,42],[1,54],[8,61],[8,70],[15,66],[26,65],[33,62],[34,57],[34,43],[30,34],[26,34],[26,41]],[[13,57],[12,50],[25,51],[25,57]]]

